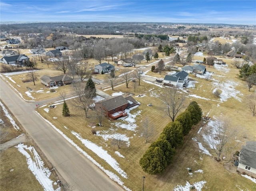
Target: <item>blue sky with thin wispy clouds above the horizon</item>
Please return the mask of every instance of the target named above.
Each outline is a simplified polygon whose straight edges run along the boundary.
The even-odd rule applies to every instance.
[[[256,0],[1,0],[0,20],[256,25]]]

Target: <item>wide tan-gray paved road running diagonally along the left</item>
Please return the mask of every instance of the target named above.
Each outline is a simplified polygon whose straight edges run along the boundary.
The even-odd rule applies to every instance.
[[[22,100],[0,79],[2,101],[30,134],[48,160],[76,191],[119,191],[98,167],[85,158],[34,111],[35,103]]]

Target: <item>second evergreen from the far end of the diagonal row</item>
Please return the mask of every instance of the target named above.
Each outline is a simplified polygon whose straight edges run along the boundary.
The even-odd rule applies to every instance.
[[[176,121],[181,123],[183,135],[187,135],[193,126],[190,112],[185,110],[178,115]]]

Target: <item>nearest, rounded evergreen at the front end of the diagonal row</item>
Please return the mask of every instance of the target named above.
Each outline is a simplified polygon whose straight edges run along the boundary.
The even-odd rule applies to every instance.
[[[150,147],[140,159],[143,171],[149,174],[163,173],[167,167],[164,152],[159,147]]]

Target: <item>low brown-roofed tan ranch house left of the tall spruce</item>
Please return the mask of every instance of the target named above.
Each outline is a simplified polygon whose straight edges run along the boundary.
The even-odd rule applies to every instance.
[[[56,85],[66,85],[72,83],[72,78],[68,77],[66,74],[50,77],[50,76],[42,76],[40,78],[41,83],[46,87],[56,86]]]

